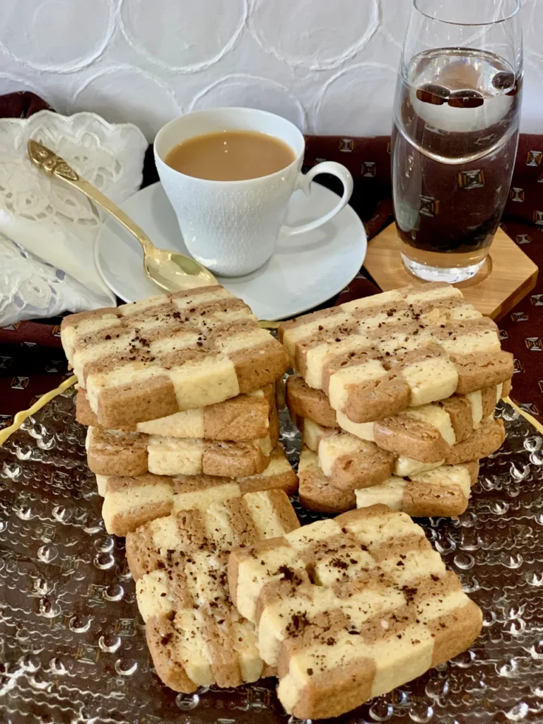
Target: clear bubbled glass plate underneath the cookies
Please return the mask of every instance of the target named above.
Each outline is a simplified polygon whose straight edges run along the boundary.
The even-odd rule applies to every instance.
[[[175,694],[153,673],[124,540],[109,536],[68,390],[0,447],[1,724],[295,724],[275,681]],[[508,439],[470,508],[420,522],[484,612],[473,647],[340,717],[543,722],[543,439],[500,403]],[[282,412],[292,463],[300,439]],[[300,508],[302,523],[319,518]]]

